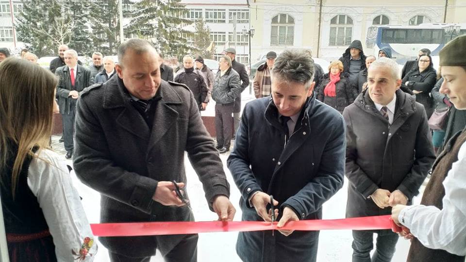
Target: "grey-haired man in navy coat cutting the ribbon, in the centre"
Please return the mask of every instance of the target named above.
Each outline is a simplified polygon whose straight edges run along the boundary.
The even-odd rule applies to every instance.
[[[244,262],[315,262],[319,231],[280,228],[321,219],[322,205],[342,187],[345,123],[313,95],[314,63],[305,51],[283,51],[272,74],[272,95],[246,104],[227,164],[242,220],[270,223],[273,212],[278,231],[240,232],[236,252]]]

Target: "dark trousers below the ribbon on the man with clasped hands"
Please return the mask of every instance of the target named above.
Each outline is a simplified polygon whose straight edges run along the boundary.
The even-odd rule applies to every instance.
[[[353,230],[353,262],[390,262],[395,253],[399,236],[397,233],[382,230],[377,234],[377,244],[372,259],[370,251],[374,247],[373,232]]]

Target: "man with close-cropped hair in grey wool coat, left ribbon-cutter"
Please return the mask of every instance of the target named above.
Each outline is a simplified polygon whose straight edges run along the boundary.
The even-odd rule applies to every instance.
[[[73,165],[101,193],[100,222],[193,221],[171,182],[186,183],[185,151],[210,209],[232,221],[230,186],[189,89],[161,81],[159,56],[143,39],[119,46],[116,73],[87,88],[76,110]],[[196,262],[197,240],[197,234],[100,237],[112,262],[148,262],[156,249],[166,262]]]

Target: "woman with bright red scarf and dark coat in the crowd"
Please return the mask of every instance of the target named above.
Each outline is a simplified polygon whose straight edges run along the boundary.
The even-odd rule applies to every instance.
[[[343,72],[343,63],[339,60],[330,63],[329,73],[324,75],[324,80],[318,87],[317,99],[341,114],[357,96],[357,91],[351,86],[349,74]]]

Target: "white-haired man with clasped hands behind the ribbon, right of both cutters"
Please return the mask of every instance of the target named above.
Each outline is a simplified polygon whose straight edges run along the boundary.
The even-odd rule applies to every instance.
[[[424,107],[399,90],[398,64],[385,57],[371,64],[367,89],[345,108],[347,217],[386,215],[410,205],[433,161]],[[353,262],[390,261],[398,241],[391,230],[353,230]],[[373,248],[373,233],[377,247]]]

